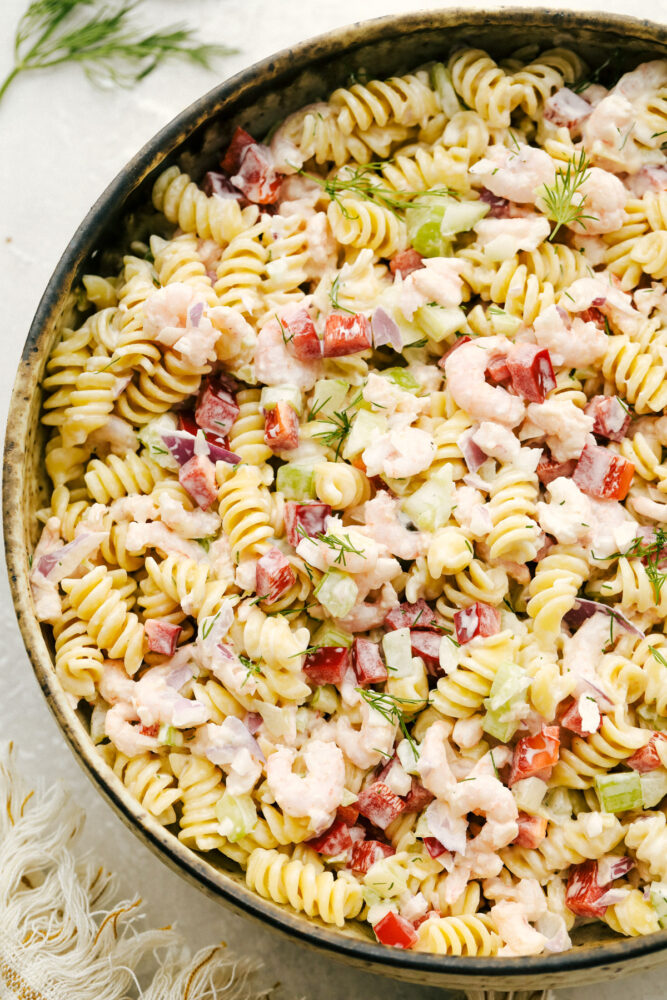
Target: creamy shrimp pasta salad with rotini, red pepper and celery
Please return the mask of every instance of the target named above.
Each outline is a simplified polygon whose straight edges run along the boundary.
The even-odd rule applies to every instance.
[[[100,753],[387,946],[667,919],[667,61],[601,79],[465,49],[237,129],[46,366],[31,582]]]

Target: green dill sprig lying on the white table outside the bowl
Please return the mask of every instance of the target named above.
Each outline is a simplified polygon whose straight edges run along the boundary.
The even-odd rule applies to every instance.
[[[20,73],[79,63],[101,85],[129,87],[165,60],[186,59],[206,69],[234,49],[197,40],[184,24],[145,33],[132,20],[142,0],[32,0],[14,35],[14,66],[0,100]]]

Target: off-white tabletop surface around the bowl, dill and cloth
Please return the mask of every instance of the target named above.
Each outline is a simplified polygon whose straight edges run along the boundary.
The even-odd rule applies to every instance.
[[[10,67],[14,27],[28,0],[0,3],[0,77]],[[465,2],[465,0],[462,0]],[[467,0],[473,5],[478,0]],[[529,6],[517,0],[515,6]],[[438,3],[410,0],[148,0],[142,17],[167,24],[186,17],[210,41],[237,55],[209,73],[180,63],[163,67],[132,91],[93,88],[78,67],[26,75],[0,104],[0,413],[7,411],[14,372],[42,290],[89,206],[130,156],[217,79],[330,28],[358,19]],[[501,4],[487,0],[486,7]],[[544,5],[548,6],[548,5]],[[614,11],[667,21],[667,0],[577,0],[574,9]],[[434,1000],[446,994],[358,973],[235,916],[173,874],[112,812],[74,760],[34,679],[4,573],[0,573],[0,738],[19,748],[23,769],[50,784],[66,779],[87,812],[86,842],[121,876],[124,891],[143,897],[156,925],[176,924],[194,947],[227,941],[265,963],[262,982],[277,996],[304,1000]],[[605,1000],[657,1000],[660,969],[605,984]],[[593,1000],[599,987],[559,991],[558,1000]]]

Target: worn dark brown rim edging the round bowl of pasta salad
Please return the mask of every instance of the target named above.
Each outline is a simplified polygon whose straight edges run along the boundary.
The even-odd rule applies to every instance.
[[[225,100],[252,98],[267,81],[288,77],[294,70],[303,70],[316,65],[324,58],[348,50],[351,46],[368,45],[386,37],[387,32],[396,34],[413,33],[426,27],[428,23],[438,26],[447,24],[469,25],[471,28],[488,25],[511,25],[517,27],[553,27],[561,31],[573,32],[599,28],[619,39],[630,35],[638,41],[645,41],[647,48],[665,32],[663,25],[645,18],[627,15],[607,14],[598,11],[548,10],[544,8],[504,7],[495,10],[468,10],[464,7],[422,10],[402,15],[387,15],[368,21],[356,22],[333,29],[307,39],[289,49],[283,49],[254,63],[229,79],[209,90],[187,108],[177,114],[160,129],[141,150],[119,171],[107,185],[103,193],[88,211],[68,243],[46,290],[37,307],[31,323],[21,364],[14,384],[7,421],[4,473],[3,473],[3,515],[6,561],[15,611],[26,650],[31,659],[37,680],[42,687],[49,707],[64,731],[76,759],[84,767],[127,825],[147,846],[171,868],[190,882],[203,888],[208,894],[222,898],[232,908],[269,924],[274,929],[298,938],[334,956],[345,957],[357,965],[372,966],[387,975],[393,972],[422,973],[425,983],[437,981],[438,977],[466,981],[472,986],[475,979],[492,980],[505,977],[516,986],[522,981],[536,981],[543,976],[605,966],[610,967],[649,956],[667,949],[667,930],[637,938],[620,938],[618,941],[585,947],[581,950],[563,952],[556,955],[521,956],[517,958],[457,958],[421,952],[399,951],[386,948],[371,940],[348,937],[333,927],[319,923],[308,923],[305,915],[296,914],[276,906],[252,892],[247,887],[227,879],[219,869],[204,862],[201,855],[184,847],[176,837],[148,816],[138,803],[105,765],[95,750],[87,731],[74,710],[69,705],[59,687],[52,669],[50,655],[34,615],[29,585],[28,558],[25,546],[25,525],[17,511],[22,509],[25,483],[25,462],[21,442],[27,431],[32,397],[26,391],[30,388],[30,376],[39,365],[38,341],[48,329],[63,298],[68,277],[76,270],[78,262],[90,253],[91,233],[104,229],[105,219],[114,206],[122,205],[139,181],[148,171],[166,158],[174,143],[206,120],[214,105]],[[18,435],[18,436],[17,436]],[[218,879],[210,872],[218,872]],[[224,884],[220,879],[223,875]],[[399,975],[400,978],[400,975]]]

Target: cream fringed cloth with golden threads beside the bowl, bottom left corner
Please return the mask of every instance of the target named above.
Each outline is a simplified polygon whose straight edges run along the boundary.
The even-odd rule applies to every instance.
[[[170,930],[139,930],[140,900],[75,845],[66,790],[33,792],[0,746],[0,1000],[260,1000],[256,964],[223,945],[191,955]]]

